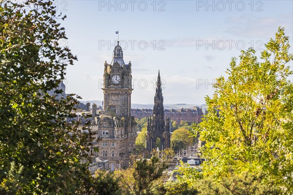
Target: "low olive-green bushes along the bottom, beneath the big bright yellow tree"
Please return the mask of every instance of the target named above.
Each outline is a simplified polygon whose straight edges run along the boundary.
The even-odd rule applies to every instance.
[[[200,169],[198,167],[197,169]],[[178,181],[167,182],[163,187],[165,194],[192,195],[280,195],[281,189],[273,181],[264,182],[263,172],[242,172],[214,180],[212,176],[203,177],[202,172],[181,163],[177,173]]]

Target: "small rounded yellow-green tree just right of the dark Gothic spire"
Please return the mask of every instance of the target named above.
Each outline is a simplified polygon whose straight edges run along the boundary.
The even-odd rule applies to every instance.
[[[171,148],[173,151],[191,146],[192,142],[193,137],[191,137],[191,133],[185,128],[177,129],[171,135]]]

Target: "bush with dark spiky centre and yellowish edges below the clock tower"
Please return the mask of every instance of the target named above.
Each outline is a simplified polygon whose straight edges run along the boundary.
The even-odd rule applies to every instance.
[[[163,153],[161,158],[159,157]],[[156,195],[160,194],[160,187],[167,179],[166,170],[174,153],[170,149],[165,151],[153,150],[150,159],[137,156],[133,165],[126,170],[115,171],[120,179],[122,194],[128,195]]]

